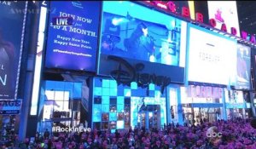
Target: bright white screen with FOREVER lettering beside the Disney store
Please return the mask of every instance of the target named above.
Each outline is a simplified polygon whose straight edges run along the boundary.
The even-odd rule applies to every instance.
[[[236,83],[236,40],[189,24],[188,80]]]

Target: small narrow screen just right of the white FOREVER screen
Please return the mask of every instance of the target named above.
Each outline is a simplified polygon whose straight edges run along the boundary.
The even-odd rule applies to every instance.
[[[251,48],[237,44],[236,89],[250,89]]]

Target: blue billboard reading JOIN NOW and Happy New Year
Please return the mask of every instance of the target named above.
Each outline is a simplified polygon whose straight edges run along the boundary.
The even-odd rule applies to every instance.
[[[45,66],[96,72],[101,2],[53,1],[50,9]],[[56,20],[65,18],[72,26],[56,26]]]

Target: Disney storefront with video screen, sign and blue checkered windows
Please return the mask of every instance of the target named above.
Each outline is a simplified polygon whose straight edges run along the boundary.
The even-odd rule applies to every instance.
[[[177,112],[187,23],[131,2],[104,2],[102,10],[98,74],[108,78],[94,78],[91,127],[113,132],[177,122],[171,103]]]

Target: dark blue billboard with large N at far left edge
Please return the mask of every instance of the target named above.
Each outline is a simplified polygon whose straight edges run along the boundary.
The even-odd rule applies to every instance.
[[[0,1],[0,99],[15,99],[26,2]]]

